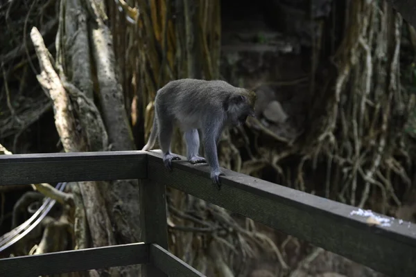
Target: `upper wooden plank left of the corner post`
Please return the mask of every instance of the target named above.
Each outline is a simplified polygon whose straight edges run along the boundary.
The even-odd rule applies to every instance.
[[[0,155],[0,186],[146,178],[146,152]]]

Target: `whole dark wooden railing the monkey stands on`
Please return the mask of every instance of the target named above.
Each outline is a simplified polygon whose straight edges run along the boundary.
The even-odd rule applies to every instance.
[[[139,179],[144,242],[0,260],[0,276],[39,276],[144,264],[148,276],[203,276],[168,249],[165,186],[250,217],[388,276],[416,276],[416,226],[391,217],[368,224],[353,206],[223,170],[218,191],[206,165],[164,168],[160,152],[0,156],[0,186]],[[381,216],[381,215],[379,215]]]

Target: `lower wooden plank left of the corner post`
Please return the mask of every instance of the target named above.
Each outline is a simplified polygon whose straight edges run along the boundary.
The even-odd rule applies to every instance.
[[[132,243],[0,259],[0,276],[44,276],[149,262],[149,244]]]

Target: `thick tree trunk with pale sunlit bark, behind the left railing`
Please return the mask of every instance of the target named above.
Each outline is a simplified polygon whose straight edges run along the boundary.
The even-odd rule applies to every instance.
[[[39,80],[53,99],[55,125],[62,130],[60,137],[66,152],[135,149],[121,84],[116,76],[112,37],[104,24],[104,11],[103,1],[61,1],[56,39],[58,73],[49,62],[46,48],[37,51],[44,69]],[[37,42],[40,39],[40,35],[33,33],[35,45],[42,44]],[[94,103],[93,89],[101,111]],[[54,91],[59,96],[54,96]],[[74,115],[80,129],[76,129]],[[87,236],[85,232],[76,232],[77,248],[141,241],[137,180],[80,182],[72,188],[75,196],[82,197],[87,218],[87,222],[76,220],[74,228],[89,231]],[[85,223],[87,226],[79,226]],[[91,240],[86,241],[86,237]],[[139,266],[131,266],[98,272],[138,276],[138,270]]]

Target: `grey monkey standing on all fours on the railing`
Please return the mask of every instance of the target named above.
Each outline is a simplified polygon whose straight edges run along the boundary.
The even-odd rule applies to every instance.
[[[150,150],[157,136],[162,148],[164,166],[172,170],[173,160],[180,160],[171,152],[173,127],[184,133],[187,159],[190,163],[208,163],[211,181],[220,189],[219,176],[224,175],[218,165],[217,145],[225,127],[243,125],[248,116],[254,117],[257,95],[250,89],[234,87],[223,80],[180,79],[159,89],[155,96],[153,127],[142,150]],[[200,157],[202,132],[205,156]]]

